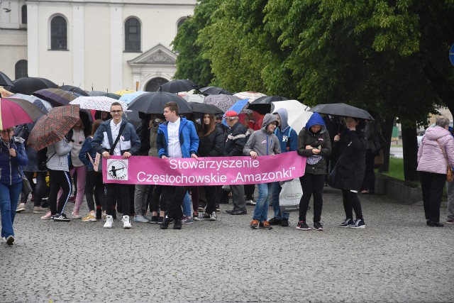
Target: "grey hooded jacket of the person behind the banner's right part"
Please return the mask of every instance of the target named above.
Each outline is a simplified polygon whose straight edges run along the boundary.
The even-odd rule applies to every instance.
[[[248,142],[243,148],[244,155],[250,155],[253,150],[258,155],[272,155],[281,153],[281,145],[277,139],[275,133],[267,131],[270,123],[277,122],[277,118],[273,114],[266,114],[263,117],[262,128],[258,131],[254,131]]]

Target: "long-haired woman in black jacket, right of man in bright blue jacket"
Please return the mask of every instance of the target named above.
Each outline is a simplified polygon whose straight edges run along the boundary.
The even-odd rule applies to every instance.
[[[199,129],[199,157],[220,157],[224,152],[224,132],[213,114],[204,114]],[[201,220],[216,221],[216,186],[205,186],[206,209]],[[195,210],[195,209],[194,209]]]

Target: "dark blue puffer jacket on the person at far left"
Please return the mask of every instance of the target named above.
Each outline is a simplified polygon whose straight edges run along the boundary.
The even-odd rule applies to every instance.
[[[11,138],[11,148],[16,150],[17,156],[9,156],[9,148],[0,139],[0,182],[1,184],[17,184],[22,182],[22,165],[27,165],[28,158],[23,147],[23,138]]]

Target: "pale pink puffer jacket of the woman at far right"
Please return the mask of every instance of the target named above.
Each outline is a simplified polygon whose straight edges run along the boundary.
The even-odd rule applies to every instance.
[[[446,162],[443,151],[445,150],[451,167],[454,167],[454,138],[449,131],[441,126],[427,128],[418,150],[418,170],[419,172],[433,172],[436,174],[446,174]]]

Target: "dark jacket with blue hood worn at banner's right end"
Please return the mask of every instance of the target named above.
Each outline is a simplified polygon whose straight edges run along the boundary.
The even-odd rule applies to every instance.
[[[311,126],[321,126],[320,131],[313,133]],[[310,145],[312,148],[321,148],[318,155],[314,155],[311,149],[306,149]],[[326,157],[331,155],[331,140],[326,130],[325,121],[320,114],[314,113],[307,121],[306,126],[301,129],[298,135],[298,155],[307,157],[306,174],[324,175],[326,174]]]

